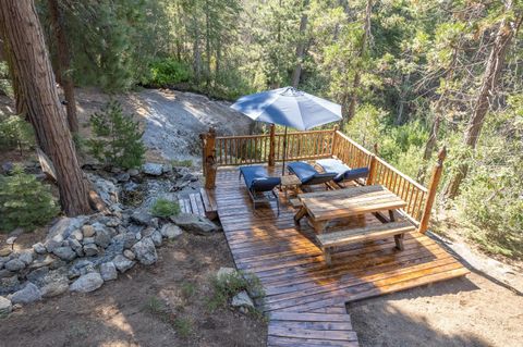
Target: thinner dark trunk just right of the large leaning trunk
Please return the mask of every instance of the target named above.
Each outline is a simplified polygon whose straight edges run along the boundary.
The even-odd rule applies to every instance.
[[[62,16],[60,14],[60,8],[58,7],[58,0],[48,0],[48,3],[51,25],[57,40],[58,64],[56,75],[63,88],[63,94],[65,96],[69,128],[71,132],[77,133],[78,120],[76,117],[76,100],[74,97],[73,79],[71,78],[71,74],[69,72],[71,69],[71,59],[62,25]]]

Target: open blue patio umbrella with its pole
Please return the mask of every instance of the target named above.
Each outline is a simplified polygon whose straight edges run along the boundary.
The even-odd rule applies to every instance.
[[[287,128],[307,131],[315,126],[341,121],[341,106],[293,87],[278,88],[241,97],[231,106],[253,121],[285,127],[283,138],[283,172],[287,157]]]

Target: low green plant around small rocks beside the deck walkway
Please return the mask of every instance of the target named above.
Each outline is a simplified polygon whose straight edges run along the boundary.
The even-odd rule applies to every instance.
[[[210,284],[212,295],[207,299],[207,307],[210,311],[224,307],[233,296],[242,290],[247,290],[250,295],[257,298],[265,296],[262,282],[253,273],[234,271],[219,277],[215,275],[210,278]]]

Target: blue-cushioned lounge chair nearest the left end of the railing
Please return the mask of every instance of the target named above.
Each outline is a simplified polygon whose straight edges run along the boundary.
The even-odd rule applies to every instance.
[[[281,184],[280,177],[270,177],[262,165],[240,166],[240,178],[242,176],[254,209],[256,210],[256,202],[276,201],[278,215],[280,215],[280,200],[278,193],[275,191],[275,188]]]

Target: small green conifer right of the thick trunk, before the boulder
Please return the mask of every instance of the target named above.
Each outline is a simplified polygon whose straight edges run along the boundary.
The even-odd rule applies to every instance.
[[[144,162],[145,146],[139,123],[124,115],[117,101],[110,101],[90,116],[93,134],[87,140],[88,152],[100,162],[123,169],[137,168]]]

